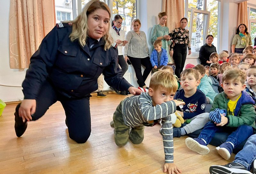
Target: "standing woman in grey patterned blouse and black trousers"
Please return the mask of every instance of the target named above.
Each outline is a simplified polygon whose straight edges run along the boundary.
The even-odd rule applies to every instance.
[[[133,31],[129,31],[126,35],[128,43],[124,47],[124,59],[125,61],[130,60],[132,63],[139,86],[146,88],[145,80],[152,69],[152,65],[148,53],[147,37],[143,31],[140,31],[140,27],[140,20],[135,19],[132,22]],[[143,75],[141,65],[145,67]]]

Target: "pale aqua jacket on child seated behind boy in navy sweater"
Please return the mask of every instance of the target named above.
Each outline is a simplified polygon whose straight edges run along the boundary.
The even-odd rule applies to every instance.
[[[213,103],[214,97],[218,94],[212,89],[212,80],[208,75],[204,75],[204,77],[201,78],[201,82],[197,86],[197,89],[205,94],[205,96],[210,100],[210,104]]]

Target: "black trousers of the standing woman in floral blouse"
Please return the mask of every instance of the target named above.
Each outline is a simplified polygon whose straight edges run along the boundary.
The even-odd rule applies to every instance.
[[[180,78],[187,57],[187,44],[175,44],[173,47],[173,60],[175,63],[174,74]]]

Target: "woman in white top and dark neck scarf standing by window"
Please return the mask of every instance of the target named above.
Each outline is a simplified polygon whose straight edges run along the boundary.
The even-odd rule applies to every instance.
[[[114,41],[117,44],[118,49],[118,64],[122,68],[123,76],[125,72],[128,70],[128,65],[124,60],[123,49],[122,46],[125,46],[128,43],[125,40],[125,32],[121,29],[123,18],[119,14],[115,15],[114,20],[112,21],[112,28],[109,29],[110,35],[113,37]],[[125,91],[118,91],[117,89],[110,87],[110,89],[114,90],[117,94],[125,95]]]

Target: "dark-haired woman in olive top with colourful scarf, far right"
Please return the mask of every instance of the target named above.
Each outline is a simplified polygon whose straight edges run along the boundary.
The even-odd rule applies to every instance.
[[[243,50],[247,46],[252,45],[252,39],[250,33],[247,32],[245,24],[240,24],[236,29],[236,35],[233,37],[231,44],[231,52],[243,53]]]

